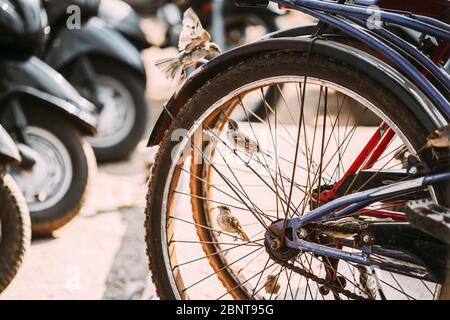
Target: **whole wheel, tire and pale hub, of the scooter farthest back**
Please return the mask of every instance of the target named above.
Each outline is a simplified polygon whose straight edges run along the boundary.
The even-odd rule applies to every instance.
[[[104,57],[90,61],[95,70],[93,88],[102,109],[97,115],[98,134],[88,142],[99,162],[123,160],[141,141],[147,126],[145,80],[133,69]]]

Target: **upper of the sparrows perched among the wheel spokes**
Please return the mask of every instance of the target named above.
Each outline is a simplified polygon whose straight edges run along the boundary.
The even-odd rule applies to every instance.
[[[239,130],[238,124],[233,119],[228,119],[228,131],[227,131],[228,143],[231,144],[231,148],[234,152],[239,151],[245,154],[249,159],[247,165],[255,154],[264,154],[269,158],[272,158],[270,154],[262,151],[259,144],[250,139],[244,132]]]

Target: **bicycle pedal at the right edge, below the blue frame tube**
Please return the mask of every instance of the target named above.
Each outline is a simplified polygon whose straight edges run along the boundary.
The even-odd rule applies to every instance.
[[[409,201],[406,218],[414,227],[450,245],[450,209],[430,200]]]

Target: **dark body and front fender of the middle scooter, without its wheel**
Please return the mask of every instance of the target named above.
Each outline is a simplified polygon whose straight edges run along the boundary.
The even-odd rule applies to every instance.
[[[1,111],[21,99],[63,112],[85,134],[96,132],[90,114],[94,105],[83,99],[55,70],[33,57],[43,50],[44,9],[37,0],[0,0]],[[6,128],[8,130],[8,128]]]

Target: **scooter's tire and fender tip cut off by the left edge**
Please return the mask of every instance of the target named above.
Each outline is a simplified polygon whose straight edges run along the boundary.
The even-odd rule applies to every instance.
[[[0,293],[22,264],[30,244],[30,215],[25,199],[7,167],[20,165],[21,156],[9,134],[0,126]]]

